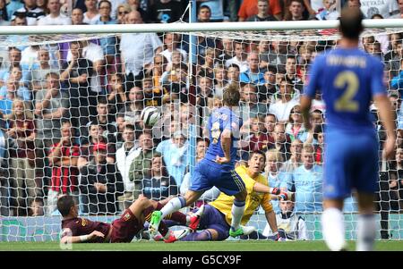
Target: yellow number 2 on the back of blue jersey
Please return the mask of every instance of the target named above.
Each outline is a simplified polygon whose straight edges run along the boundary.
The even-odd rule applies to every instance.
[[[336,111],[340,112],[356,112],[359,109],[359,104],[355,100],[356,92],[359,88],[359,80],[356,73],[353,71],[342,71],[334,80],[334,87],[346,90],[334,104]]]

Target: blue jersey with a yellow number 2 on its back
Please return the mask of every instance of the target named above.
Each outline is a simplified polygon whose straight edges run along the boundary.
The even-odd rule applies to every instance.
[[[336,48],[318,55],[304,94],[322,92],[329,129],[373,129],[369,111],[375,95],[386,95],[382,62],[358,48]]]

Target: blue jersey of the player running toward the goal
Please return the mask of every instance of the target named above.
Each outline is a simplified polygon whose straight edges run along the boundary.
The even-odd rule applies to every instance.
[[[231,143],[231,162],[229,165],[235,166],[236,152],[239,140],[239,130],[242,126],[242,119],[236,115],[227,106],[223,106],[210,114],[208,130],[210,132],[210,146],[207,149],[205,158],[210,161],[215,161],[217,156],[224,156],[224,151],[221,147],[221,133],[223,130],[230,130]]]

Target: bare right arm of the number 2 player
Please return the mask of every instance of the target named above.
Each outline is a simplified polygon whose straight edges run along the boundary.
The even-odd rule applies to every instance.
[[[386,95],[376,95],[373,97],[373,101],[378,107],[379,116],[387,134],[387,139],[383,145],[382,156],[384,159],[391,159],[395,149],[396,131],[390,100]]]

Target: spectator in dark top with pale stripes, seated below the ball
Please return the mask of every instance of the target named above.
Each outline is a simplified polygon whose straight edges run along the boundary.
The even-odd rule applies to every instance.
[[[175,179],[167,172],[164,159],[156,154],[151,159],[150,178],[144,178],[141,182],[141,193],[146,198],[154,201],[162,201],[165,198],[178,194],[178,185]]]

